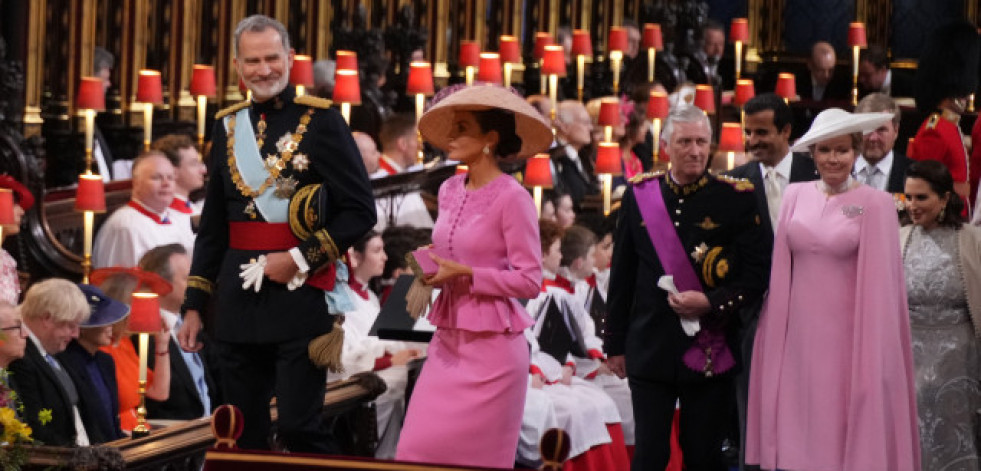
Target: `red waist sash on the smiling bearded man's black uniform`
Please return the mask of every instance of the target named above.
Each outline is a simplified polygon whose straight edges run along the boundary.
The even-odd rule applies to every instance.
[[[228,223],[228,247],[235,250],[286,251],[300,245],[287,223],[231,221]],[[306,284],[333,291],[337,269],[333,263],[310,273]]]

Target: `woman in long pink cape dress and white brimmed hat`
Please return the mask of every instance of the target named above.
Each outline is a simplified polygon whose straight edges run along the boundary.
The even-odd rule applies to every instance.
[[[753,350],[747,463],[793,471],[920,469],[896,207],[889,194],[847,173],[861,142],[853,133],[878,125],[832,109],[795,145],[811,144],[814,153],[814,144],[827,149],[845,136],[834,142],[852,148],[836,154],[833,169],[815,154],[822,180],[791,184],[783,195]],[[830,180],[831,173],[839,178]]]

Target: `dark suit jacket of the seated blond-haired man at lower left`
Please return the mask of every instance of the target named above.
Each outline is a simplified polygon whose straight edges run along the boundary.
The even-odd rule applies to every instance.
[[[11,363],[8,369],[17,378],[15,391],[24,404],[24,420],[34,432],[34,439],[45,445],[75,446],[75,415],[68,393],[33,341],[28,339],[24,358]],[[51,410],[51,421],[46,425],[38,420],[42,409]]]

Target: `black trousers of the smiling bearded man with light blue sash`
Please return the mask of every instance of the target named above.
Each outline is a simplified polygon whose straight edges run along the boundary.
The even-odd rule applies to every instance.
[[[327,372],[307,356],[310,340],[221,344],[218,355],[225,402],[241,409],[245,419],[240,448],[269,449],[269,400],[275,395],[277,430],[289,451],[338,453],[322,420]]]

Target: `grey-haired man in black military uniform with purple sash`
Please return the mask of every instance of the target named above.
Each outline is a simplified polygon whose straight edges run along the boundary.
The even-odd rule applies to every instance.
[[[604,346],[610,368],[630,381],[637,427],[633,469],[667,465],[680,400],[686,469],[723,470],[722,440],[739,370],[737,313],[766,290],[770,253],[753,185],[706,172],[707,117],[694,107],[675,110],[664,137],[670,173],[635,177],[622,200]],[[663,199],[660,218],[650,210],[657,198]],[[659,226],[674,229],[676,251],[655,249],[672,247],[664,245],[671,237],[662,238]],[[661,240],[651,239],[649,227]],[[694,273],[679,277],[684,270],[677,268],[685,264]],[[670,274],[676,283],[688,278],[694,289],[679,284],[681,292],[669,295],[658,288],[666,265],[675,267]],[[701,330],[690,337],[682,319],[698,320]],[[699,357],[704,360],[692,361]]]

